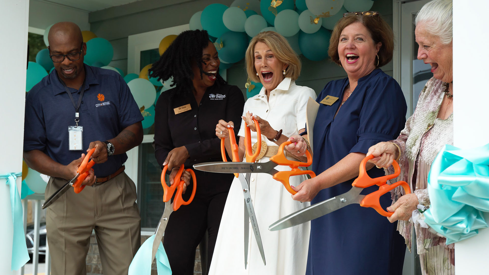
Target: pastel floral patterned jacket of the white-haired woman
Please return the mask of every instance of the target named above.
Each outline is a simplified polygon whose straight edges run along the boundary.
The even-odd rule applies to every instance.
[[[422,90],[416,110],[406,121],[405,128],[397,139],[391,140],[399,145],[401,154],[399,159],[400,176],[392,182],[405,181],[411,186],[411,190],[417,195],[420,203],[430,205],[427,179],[431,163],[445,144],[453,145],[453,114],[446,119],[437,118],[440,106],[445,97],[446,83],[432,77]],[[392,174],[394,169],[390,167],[387,173]],[[392,191],[393,203],[404,194],[400,187]],[[424,216],[421,215],[422,218]],[[412,219],[399,221],[398,230],[406,240],[406,245],[411,251]],[[446,245],[445,237],[438,235],[430,228],[422,228],[420,223],[414,224],[416,230],[416,244],[418,254],[425,253],[432,246],[442,245],[453,248],[454,245]]]

